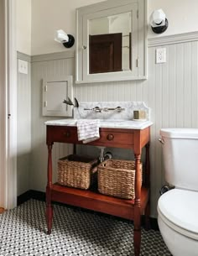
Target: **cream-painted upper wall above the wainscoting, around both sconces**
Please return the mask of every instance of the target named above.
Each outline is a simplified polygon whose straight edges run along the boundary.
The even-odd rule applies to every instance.
[[[30,47],[31,55],[67,50],[55,42],[55,30],[64,29],[67,34],[76,36],[76,8],[102,1],[104,0],[17,0],[17,49],[29,55]],[[169,28],[160,35],[154,34],[149,28],[148,38],[198,31],[197,0],[148,0],[148,19],[158,8],[166,13]]]

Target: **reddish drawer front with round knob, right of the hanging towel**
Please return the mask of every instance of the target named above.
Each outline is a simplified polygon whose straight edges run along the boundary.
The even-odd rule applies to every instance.
[[[133,145],[133,133],[121,133],[114,131],[102,131],[100,133],[101,138],[99,138],[98,143],[102,144],[123,144],[123,145]]]

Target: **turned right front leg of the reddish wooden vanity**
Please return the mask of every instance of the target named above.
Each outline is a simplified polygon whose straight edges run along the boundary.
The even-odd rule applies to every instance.
[[[140,171],[140,159],[141,154],[135,154],[135,166],[136,166],[136,177],[135,177],[135,206],[134,206],[134,254],[139,256],[140,245],[141,245],[141,171]]]

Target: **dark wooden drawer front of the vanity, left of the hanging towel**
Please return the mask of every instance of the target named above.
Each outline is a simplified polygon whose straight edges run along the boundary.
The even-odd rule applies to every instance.
[[[77,128],[65,126],[48,126],[47,142],[72,143],[78,142]]]

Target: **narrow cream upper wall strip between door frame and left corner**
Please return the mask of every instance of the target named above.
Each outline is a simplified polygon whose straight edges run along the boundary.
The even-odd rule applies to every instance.
[[[17,50],[26,55],[31,55],[31,2],[32,0],[16,1]]]

